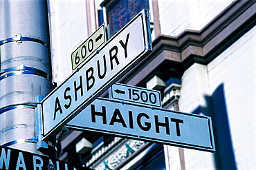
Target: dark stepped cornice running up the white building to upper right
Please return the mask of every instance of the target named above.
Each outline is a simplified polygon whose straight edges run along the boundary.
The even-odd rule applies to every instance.
[[[152,76],[167,81],[170,75],[181,78],[193,63],[207,65],[255,26],[255,9],[256,1],[234,1],[200,31],[157,36],[153,52],[119,82],[145,87]]]

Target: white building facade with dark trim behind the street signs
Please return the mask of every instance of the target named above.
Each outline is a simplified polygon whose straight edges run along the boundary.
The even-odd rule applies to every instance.
[[[53,81],[72,73],[71,53],[102,23],[111,37],[143,9],[152,53],[118,83],[159,90],[163,108],[210,116],[216,151],[63,128],[59,158],[91,169],[254,169],[255,0],[48,0]]]

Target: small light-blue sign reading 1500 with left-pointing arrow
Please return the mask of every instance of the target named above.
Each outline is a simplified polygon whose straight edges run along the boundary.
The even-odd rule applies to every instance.
[[[109,88],[109,98],[161,107],[161,94],[159,91],[132,85],[113,84]]]

